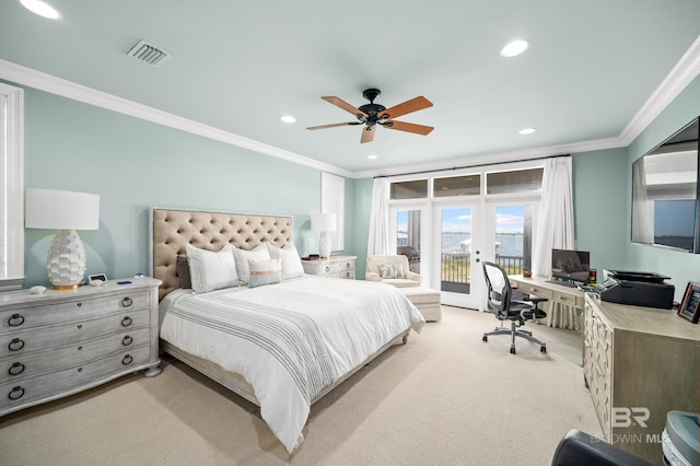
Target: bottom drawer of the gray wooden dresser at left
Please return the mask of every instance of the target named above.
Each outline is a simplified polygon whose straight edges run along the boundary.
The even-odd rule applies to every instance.
[[[12,410],[13,407],[55,394],[67,395],[72,389],[84,387],[86,384],[97,384],[101,378],[127,373],[129,368],[148,363],[149,356],[148,346],[132,348],[62,371],[26,377],[19,382],[9,381],[0,384],[0,410]]]

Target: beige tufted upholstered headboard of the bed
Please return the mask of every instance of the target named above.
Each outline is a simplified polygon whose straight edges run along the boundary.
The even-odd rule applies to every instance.
[[[268,242],[283,247],[292,242],[291,215],[206,212],[178,209],[151,209],[150,275],[163,281],[159,300],[179,288],[177,256],[185,245],[219,251],[228,243],[253,249]]]

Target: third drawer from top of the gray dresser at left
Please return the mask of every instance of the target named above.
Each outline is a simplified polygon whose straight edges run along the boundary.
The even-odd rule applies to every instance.
[[[149,328],[139,328],[80,341],[50,351],[13,354],[0,360],[0,384],[33,377],[61,368],[72,368],[115,352],[148,346],[150,338]]]

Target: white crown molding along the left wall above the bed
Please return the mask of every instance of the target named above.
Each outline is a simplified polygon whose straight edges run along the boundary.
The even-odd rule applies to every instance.
[[[213,139],[226,144],[236,145],[255,152],[272,155],[300,165],[310,166],[322,172],[328,172],[340,176],[351,177],[352,172],[319,162],[294,152],[290,152],[273,145],[265,144],[253,139],[244,138],[233,132],[224,131],[212,126],[203,125],[158,108],[149,107],[133,101],[117,97],[106,92],[77,84],[74,82],[54,77],[11,61],[0,59],[0,78],[16,84],[26,85],[61,97],[102,107],[108,110],[129,115],[147,121],[175,128],[205,138]]]

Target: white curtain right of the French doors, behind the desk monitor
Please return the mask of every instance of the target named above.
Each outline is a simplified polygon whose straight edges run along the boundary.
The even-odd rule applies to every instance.
[[[533,253],[533,275],[551,275],[551,249],[573,249],[571,156],[548,159]]]

